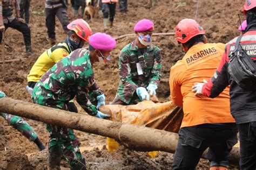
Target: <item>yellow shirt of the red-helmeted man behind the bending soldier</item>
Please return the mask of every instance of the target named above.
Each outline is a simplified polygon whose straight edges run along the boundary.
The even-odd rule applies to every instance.
[[[57,46],[65,46],[66,49],[69,50],[69,47],[66,43],[59,43]],[[42,75],[44,75],[44,73],[46,73],[53,65],[55,65],[56,62],[65,56],[68,56],[70,53],[61,47],[56,48],[54,51],[52,51],[52,48],[47,49],[43,54],[39,56],[27,77],[28,82],[38,82]]]

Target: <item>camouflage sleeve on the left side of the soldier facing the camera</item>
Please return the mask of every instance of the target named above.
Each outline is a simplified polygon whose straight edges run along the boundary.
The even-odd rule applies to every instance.
[[[127,89],[130,89],[130,93],[138,88],[136,83],[132,81],[131,67],[128,59],[128,54],[126,52],[120,52],[119,56],[119,76],[120,80]]]

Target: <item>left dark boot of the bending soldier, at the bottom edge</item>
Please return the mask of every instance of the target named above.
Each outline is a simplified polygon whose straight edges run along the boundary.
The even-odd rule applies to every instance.
[[[49,170],[60,170],[60,161],[62,160],[62,151],[58,145],[49,148],[48,166]]]

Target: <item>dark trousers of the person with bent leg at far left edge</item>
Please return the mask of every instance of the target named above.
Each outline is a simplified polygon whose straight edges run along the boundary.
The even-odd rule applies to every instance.
[[[24,37],[25,46],[31,46],[31,35],[30,35],[30,29],[29,29],[28,25],[26,25],[25,23],[19,22],[15,18],[14,20],[12,20],[11,23],[4,24],[4,26],[5,26],[5,31],[9,27],[11,27],[11,28],[21,32]],[[2,38],[3,38],[3,35],[2,35],[2,32],[0,32],[0,42],[2,42]]]

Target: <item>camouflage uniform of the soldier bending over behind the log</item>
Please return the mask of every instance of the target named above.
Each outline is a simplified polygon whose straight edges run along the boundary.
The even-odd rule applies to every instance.
[[[89,51],[80,48],[60,60],[48,70],[33,89],[33,102],[52,108],[68,110],[68,102],[75,98],[78,104],[90,115],[97,114],[97,96],[103,91],[98,87],[94,77]],[[90,98],[90,100],[89,100]],[[50,133],[49,148],[58,145],[69,165],[82,160],[79,141],[72,129],[55,125],[46,125]]]

